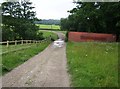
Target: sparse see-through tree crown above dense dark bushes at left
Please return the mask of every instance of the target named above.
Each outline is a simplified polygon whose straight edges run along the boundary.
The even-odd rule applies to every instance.
[[[21,0],[20,2],[3,2],[2,15],[9,15],[14,18],[25,18],[29,20],[35,19],[35,12],[32,11],[34,7],[32,2]]]

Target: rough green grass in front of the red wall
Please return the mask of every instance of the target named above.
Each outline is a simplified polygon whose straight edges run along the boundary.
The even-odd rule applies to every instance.
[[[118,86],[118,43],[68,42],[67,58],[73,87]]]

